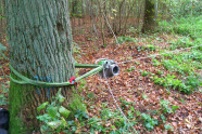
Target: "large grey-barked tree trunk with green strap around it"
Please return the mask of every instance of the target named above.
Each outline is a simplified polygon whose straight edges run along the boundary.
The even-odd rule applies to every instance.
[[[75,76],[72,30],[66,0],[7,0],[8,38],[11,65],[29,79],[66,82]],[[18,79],[11,73],[13,78]],[[64,106],[85,110],[75,86],[63,86]],[[36,88],[10,83],[10,133],[37,130],[37,107],[58,88]]]

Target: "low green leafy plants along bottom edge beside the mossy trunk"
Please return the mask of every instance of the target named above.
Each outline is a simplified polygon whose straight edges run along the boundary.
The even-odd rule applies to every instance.
[[[64,97],[61,95],[61,91],[58,92],[56,96],[53,97],[53,102],[49,104],[48,102],[41,104],[37,110],[40,112],[45,110],[46,113],[39,115],[37,119],[40,123],[41,133],[83,133],[86,129],[89,133],[129,133],[130,124],[125,120],[118,110],[113,111],[106,106],[108,103],[102,104],[102,109],[99,110],[99,115],[90,118],[87,112],[77,109],[73,120],[67,120],[71,111],[62,106]],[[127,115],[131,125],[142,125],[146,131],[152,131],[155,126],[160,124],[164,125],[164,130],[172,130],[172,126],[166,124],[166,116],[175,112],[179,107],[173,106],[168,100],[160,100],[161,108],[155,112],[148,110],[148,112],[140,112],[135,110],[135,104],[127,102],[123,98],[119,99],[122,110]],[[155,113],[155,118],[151,116]]]

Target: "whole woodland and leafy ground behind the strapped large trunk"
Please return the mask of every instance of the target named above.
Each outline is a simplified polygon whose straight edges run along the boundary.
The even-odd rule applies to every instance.
[[[102,57],[121,63],[199,45],[118,64],[121,73],[109,84],[139,133],[202,132],[202,1],[68,0],[68,6],[78,63],[93,64]],[[0,0],[0,107],[8,109],[5,10]],[[80,69],[77,75],[87,71]],[[68,125],[59,126],[61,133],[134,133],[117,110],[105,80],[91,76],[78,83],[78,91],[87,112],[78,110]],[[56,131],[43,123],[48,119],[38,119],[45,132]]]

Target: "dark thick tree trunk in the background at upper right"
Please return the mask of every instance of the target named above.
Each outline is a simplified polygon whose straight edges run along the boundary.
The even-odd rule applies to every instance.
[[[155,25],[156,25],[154,15],[155,15],[154,0],[146,0],[142,32],[152,32],[154,30]]]

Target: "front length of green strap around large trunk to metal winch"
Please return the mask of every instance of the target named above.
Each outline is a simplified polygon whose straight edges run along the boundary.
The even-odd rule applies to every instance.
[[[9,65],[10,68],[11,68],[11,71],[13,71],[14,75],[16,75],[18,78],[22,79],[22,81],[18,81],[14,78],[12,78],[12,76],[10,75],[10,78],[13,82],[15,83],[18,83],[18,84],[33,84],[33,85],[37,85],[37,86],[66,86],[66,85],[70,85],[71,83],[70,82],[61,82],[61,83],[56,83],[56,82],[41,82],[41,81],[36,81],[36,80],[31,80],[31,79],[28,79],[27,77],[21,75],[20,72],[17,72],[11,65]],[[89,72],[78,77],[75,79],[75,82],[77,82],[78,80],[80,79],[84,79],[86,77],[89,77],[91,75],[94,75],[99,71],[101,71],[103,69],[103,66],[99,66],[92,70],[90,70]]]

